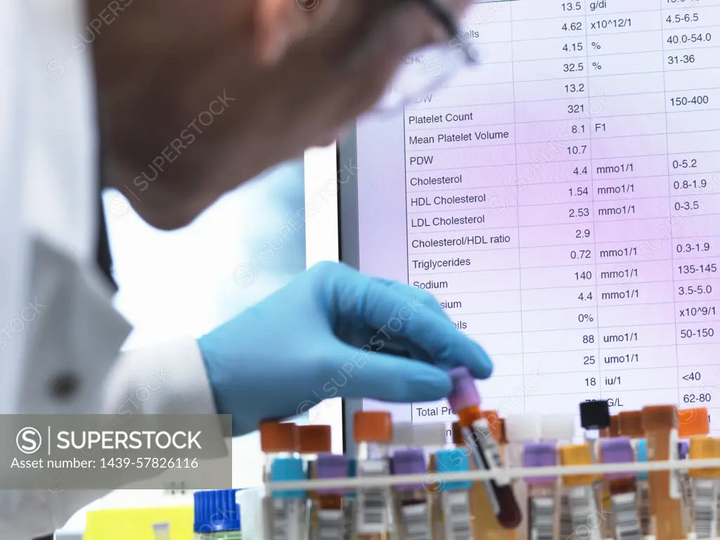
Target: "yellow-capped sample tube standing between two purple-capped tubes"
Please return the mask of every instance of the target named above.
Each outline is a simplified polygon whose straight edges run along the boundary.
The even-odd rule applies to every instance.
[[[590,465],[594,462],[593,451],[587,443],[561,446],[559,454],[564,466]],[[600,512],[595,496],[598,481],[597,474],[577,474],[562,479],[575,540],[601,540]]]

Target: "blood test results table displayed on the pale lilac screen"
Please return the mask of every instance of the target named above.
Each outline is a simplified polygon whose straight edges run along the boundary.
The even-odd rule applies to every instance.
[[[501,415],[678,403],[720,431],[720,0],[472,4],[407,107],[408,274]],[[415,404],[413,421],[452,418]]]

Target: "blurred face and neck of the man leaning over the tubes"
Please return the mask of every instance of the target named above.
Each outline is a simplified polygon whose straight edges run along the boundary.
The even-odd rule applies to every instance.
[[[186,225],[332,142],[405,55],[443,37],[414,1],[132,1],[94,42],[109,185],[150,225]]]

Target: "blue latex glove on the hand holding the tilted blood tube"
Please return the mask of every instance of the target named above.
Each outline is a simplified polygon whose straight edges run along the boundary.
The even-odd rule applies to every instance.
[[[431,294],[335,263],[314,266],[198,343],[235,436],[330,397],[439,400],[454,366],[478,379],[492,372]]]

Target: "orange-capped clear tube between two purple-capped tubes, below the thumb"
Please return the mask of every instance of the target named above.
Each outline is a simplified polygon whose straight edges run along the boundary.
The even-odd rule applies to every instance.
[[[368,478],[390,474],[388,459],[392,442],[390,413],[375,411],[355,413],[353,435],[357,445],[357,477]],[[391,498],[388,487],[359,488],[355,517],[356,539],[386,539],[390,533],[390,508]]]

